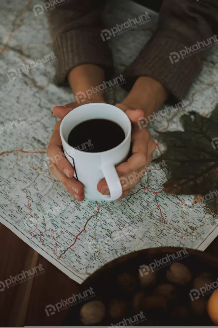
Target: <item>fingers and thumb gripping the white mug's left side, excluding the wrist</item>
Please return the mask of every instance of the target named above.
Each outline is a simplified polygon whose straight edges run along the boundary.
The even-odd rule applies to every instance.
[[[80,103],[80,105],[91,102],[96,102],[96,100],[86,100],[86,102]],[[97,102],[104,101],[98,100]],[[47,149],[51,173],[63,184],[68,193],[70,193],[73,198],[78,201],[82,201],[84,199],[83,184],[74,178],[74,168],[64,156],[62,151],[60,124],[67,113],[80,105],[77,102],[73,102],[65,106],[54,107],[53,113],[61,120],[54,126],[54,131]]]

